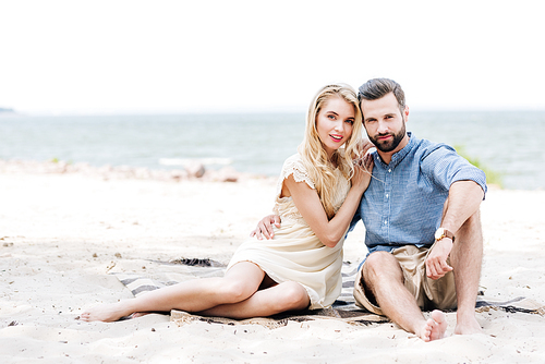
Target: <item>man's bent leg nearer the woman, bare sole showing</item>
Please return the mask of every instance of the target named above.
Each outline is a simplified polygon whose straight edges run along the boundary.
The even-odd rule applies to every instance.
[[[363,265],[362,280],[383,313],[404,330],[417,335],[424,341],[445,336],[447,323],[440,311],[425,319],[416,300],[404,287],[403,271],[396,257],[387,252],[372,253]]]

